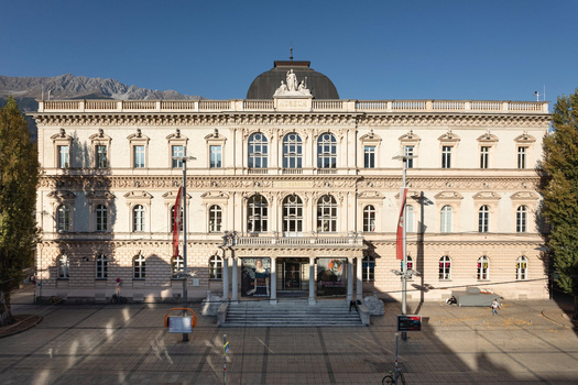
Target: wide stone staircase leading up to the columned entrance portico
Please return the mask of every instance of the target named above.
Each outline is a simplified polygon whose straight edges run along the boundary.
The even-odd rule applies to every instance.
[[[307,299],[283,298],[230,304],[223,327],[360,327],[361,317],[345,299],[321,299],[309,306]]]

